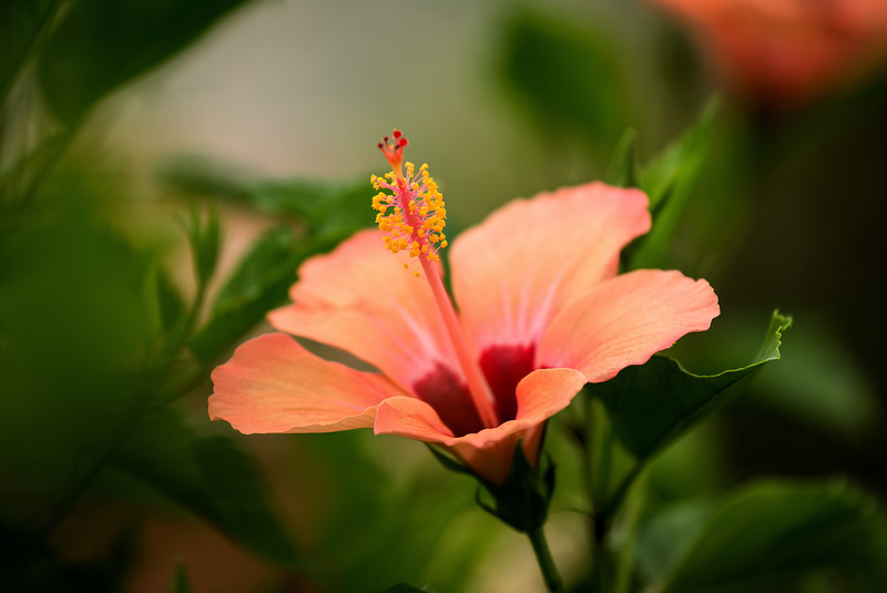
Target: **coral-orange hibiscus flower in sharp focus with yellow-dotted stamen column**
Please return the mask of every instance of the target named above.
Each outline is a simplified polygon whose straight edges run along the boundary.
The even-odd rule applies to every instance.
[[[268,315],[282,333],[215,369],[213,420],[244,433],[373,428],[441,446],[502,484],[518,442],[536,463],[546,421],[587,382],[718,315],[705,280],[618,274],[622,247],[650,228],[648,198],[602,183],[513,201],[459,235],[451,299],[438,255],[443,200],[426,165],[402,162],[406,145],[397,131],[379,144],[391,165],[373,178],[380,228],[306,260],[293,303]],[[289,334],[378,372],[322,359]]]

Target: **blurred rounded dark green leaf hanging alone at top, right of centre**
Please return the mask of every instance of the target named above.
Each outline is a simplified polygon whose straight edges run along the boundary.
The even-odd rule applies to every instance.
[[[600,29],[519,9],[506,27],[502,75],[529,114],[595,146],[612,146],[629,121],[619,53]]]

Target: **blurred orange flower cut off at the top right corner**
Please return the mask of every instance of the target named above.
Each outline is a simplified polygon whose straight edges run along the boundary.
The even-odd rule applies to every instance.
[[[685,20],[746,98],[788,106],[887,55],[885,0],[653,0]]]

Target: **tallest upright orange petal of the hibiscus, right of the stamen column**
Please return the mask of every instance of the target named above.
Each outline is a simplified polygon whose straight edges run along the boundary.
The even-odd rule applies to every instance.
[[[476,351],[536,344],[554,314],[612,277],[650,228],[646,196],[602,183],[518,200],[453,241],[452,288]]]

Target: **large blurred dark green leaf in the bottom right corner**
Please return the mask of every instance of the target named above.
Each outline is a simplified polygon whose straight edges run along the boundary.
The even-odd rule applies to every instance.
[[[710,514],[657,590],[752,591],[838,568],[867,587],[854,591],[887,591],[886,526],[874,502],[844,483],[762,481]]]

